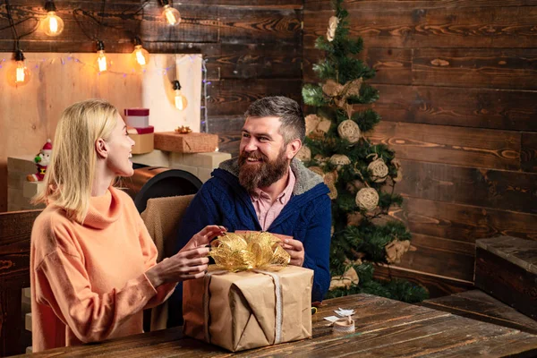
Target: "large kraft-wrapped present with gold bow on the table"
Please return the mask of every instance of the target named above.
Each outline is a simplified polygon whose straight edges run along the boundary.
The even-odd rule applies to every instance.
[[[313,271],[287,266],[278,242],[257,232],[213,242],[216,265],[183,283],[184,334],[232,352],[311,337]]]

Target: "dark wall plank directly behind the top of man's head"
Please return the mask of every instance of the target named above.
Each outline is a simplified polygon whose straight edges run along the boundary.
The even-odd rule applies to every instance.
[[[267,96],[286,96],[301,102],[302,80],[212,81],[210,115],[243,115],[251,102]]]

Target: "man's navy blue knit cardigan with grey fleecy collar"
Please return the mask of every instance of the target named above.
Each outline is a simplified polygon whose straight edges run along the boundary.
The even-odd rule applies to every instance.
[[[267,231],[290,235],[303,243],[303,267],[314,271],[311,301],[322,301],[330,284],[328,257],[332,215],[329,190],[320,175],[311,172],[301,161],[293,159],[291,170],[296,177],[293,195]],[[229,232],[261,230],[250,195],[239,183],[238,173],[236,158],[226,160],[212,172],[212,178],[203,184],[186,209],[178,231],[176,251],[208,225],[226,226]]]

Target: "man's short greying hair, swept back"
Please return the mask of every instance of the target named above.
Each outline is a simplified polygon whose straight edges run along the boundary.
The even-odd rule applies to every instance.
[[[282,124],[279,132],[284,137],[285,144],[295,139],[304,141],[306,123],[303,111],[291,98],[275,96],[258,99],[250,105],[244,116],[246,118],[279,117]]]

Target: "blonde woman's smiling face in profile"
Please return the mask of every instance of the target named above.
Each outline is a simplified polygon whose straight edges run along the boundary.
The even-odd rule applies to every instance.
[[[115,175],[132,176],[134,170],[132,169],[131,151],[134,141],[127,134],[127,126],[123,118],[117,115],[116,120],[114,131],[107,140],[110,146],[107,166]]]

